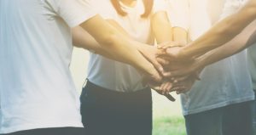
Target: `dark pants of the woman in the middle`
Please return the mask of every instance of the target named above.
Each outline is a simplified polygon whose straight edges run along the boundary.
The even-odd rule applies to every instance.
[[[84,127],[90,134],[152,134],[150,88],[133,93],[119,93],[87,82],[80,100]]]

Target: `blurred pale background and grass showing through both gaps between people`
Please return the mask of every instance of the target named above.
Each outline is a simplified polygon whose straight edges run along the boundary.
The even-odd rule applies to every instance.
[[[73,50],[70,69],[79,93],[86,78],[88,54],[84,49]],[[153,135],[186,135],[179,97],[175,93],[172,94],[177,99],[176,102],[171,102],[166,97],[153,92]]]

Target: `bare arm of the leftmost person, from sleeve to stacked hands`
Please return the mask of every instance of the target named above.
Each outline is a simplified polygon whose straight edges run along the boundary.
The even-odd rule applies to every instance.
[[[96,39],[96,42],[100,43],[102,49],[112,57],[122,59],[123,62],[133,65],[139,70],[143,70],[156,80],[160,80],[160,76],[157,70],[154,69],[154,65],[148,62],[139,50],[135,48],[135,46],[143,43],[125,37],[112,25],[109,25],[107,21],[103,20],[100,15],[96,15],[90,20],[85,21],[81,27],[85,31],[88,31]],[[87,47],[83,45],[83,48]]]

